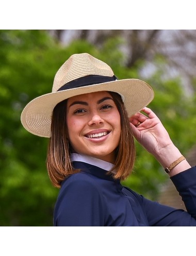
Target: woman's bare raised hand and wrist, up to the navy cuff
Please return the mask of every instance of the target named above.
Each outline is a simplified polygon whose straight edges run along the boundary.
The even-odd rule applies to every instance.
[[[147,116],[138,112],[129,119],[133,134],[137,141],[154,155],[162,167],[169,167],[170,164],[182,157],[182,153],[175,147],[155,113],[147,107],[143,108],[142,111]],[[169,176],[172,177],[190,167],[185,159],[171,169]]]

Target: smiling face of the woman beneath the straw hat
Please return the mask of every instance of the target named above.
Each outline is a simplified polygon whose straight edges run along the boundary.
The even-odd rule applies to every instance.
[[[67,125],[75,152],[115,163],[121,136],[119,111],[111,95],[93,92],[68,99]]]

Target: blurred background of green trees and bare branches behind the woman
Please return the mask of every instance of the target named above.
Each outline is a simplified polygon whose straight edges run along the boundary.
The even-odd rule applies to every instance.
[[[20,116],[31,99],[51,92],[69,56],[81,52],[106,62],[119,79],[148,82],[155,92],[149,107],[196,164],[196,30],[1,30],[1,226],[53,225],[58,189],[45,166],[48,139],[28,133]],[[168,175],[137,142],[136,148],[134,172],[123,184],[151,200],[176,203],[177,195],[167,201]]]

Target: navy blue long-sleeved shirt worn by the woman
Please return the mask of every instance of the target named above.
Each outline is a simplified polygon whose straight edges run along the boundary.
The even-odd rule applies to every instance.
[[[196,226],[196,167],[171,177],[184,211],[144,198],[105,169],[79,161],[73,166],[81,171],[61,184],[55,226]]]

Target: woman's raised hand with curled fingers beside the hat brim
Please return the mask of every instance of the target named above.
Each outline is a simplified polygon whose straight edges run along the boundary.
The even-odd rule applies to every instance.
[[[138,142],[153,155],[159,154],[162,148],[172,145],[172,141],[164,125],[150,108],[142,111],[148,116],[138,112],[129,118],[133,135]]]

